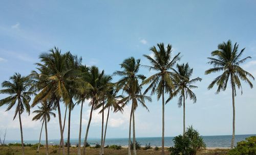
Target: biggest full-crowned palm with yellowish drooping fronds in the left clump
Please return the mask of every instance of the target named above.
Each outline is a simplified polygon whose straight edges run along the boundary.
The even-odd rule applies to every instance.
[[[40,75],[39,79],[40,81],[44,81],[44,83],[41,84],[40,92],[35,96],[32,107],[40,101],[54,98],[58,110],[62,154],[65,155],[59,102],[60,100],[63,100],[63,102],[68,105],[70,101],[67,89],[67,79],[72,73],[72,70],[67,69],[66,54],[62,55],[61,50],[57,47],[54,47],[49,51],[50,53],[43,53],[39,56],[42,63],[36,63],[38,66],[37,69],[40,71],[40,73],[38,73]]]

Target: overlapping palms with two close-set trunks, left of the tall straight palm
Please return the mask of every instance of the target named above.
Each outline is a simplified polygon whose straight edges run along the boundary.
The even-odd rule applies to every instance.
[[[130,127],[129,127],[129,148],[128,154],[131,155],[131,122],[133,117],[133,152],[136,155],[135,147],[135,116],[134,112],[138,107],[138,102],[147,109],[145,105],[145,99],[151,101],[151,97],[141,94],[142,86],[139,85],[139,80],[144,80],[145,76],[138,74],[140,67],[140,59],[135,60],[133,57],[125,59],[122,64],[120,64],[123,71],[115,71],[114,75],[122,76],[122,78],[117,82],[117,88],[122,89],[123,92],[127,94],[126,97],[120,100],[127,105],[129,101],[132,101],[132,109],[130,115]]]

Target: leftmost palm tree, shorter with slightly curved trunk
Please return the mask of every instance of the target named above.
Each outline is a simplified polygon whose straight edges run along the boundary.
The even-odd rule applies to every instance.
[[[0,90],[1,94],[10,95],[0,100],[0,107],[3,105],[7,105],[8,107],[6,111],[9,111],[14,107],[14,105],[17,102],[13,120],[16,118],[18,114],[23,155],[24,155],[24,142],[23,142],[22,119],[20,115],[24,112],[24,110],[26,110],[26,112],[30,114],[30,105],[29,105],[29,102],[31,100],[30,96],[35,94],[32,91],[28,91],[29,88],[31,87],[30,82],[31,81],[29,76],[22,76],[19,73],[15,73],[13,76],[10,77],[10,81],[4,81],[2,83],[2,87],[6,89]]]

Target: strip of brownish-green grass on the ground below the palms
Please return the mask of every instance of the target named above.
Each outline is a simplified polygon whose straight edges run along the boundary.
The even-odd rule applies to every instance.
[[[67,148],[65,148],[67,149]],[[53,153],[54,150],[57,151],[57,153]],[[98,155],[99,154],[100,149],[99,148],[87,148],[87,154],[90,155]],[[9,152],[9,153],[8,153]],[[213,150],[202,150],[200,151],[198,154],[199,155],[222,155],[222,154],[227,154],[228,149],[213,149]],[[0,147],[0,155],[19,155],[22,154],[22,147],[20,146],[11,146],[11,147]],[[25,147],[25,154],[26,155],[34,155],[37,154],[35,149],[32,149],[31,147]],[[46,154],[46,150],[45,147],[40,147],[39,150],[39,154],[38,155],[43,155]],[[49,154],[58,154],[58,147],[52,147],[49,146]],[[77,148],[76,147],[71,147],[70,148],[70,154],[71,155],[75,155],[77,154]],[[116,150],[116,149],[111,149],[111,148],[104,148],[104,154],[106,155],[117,155],[117,154],[127,154],[127,148],[122,148],[120,150]],[[142,155],[142,154],[161,154],[161,149],[159,150],[154,150],[154,149],[147,149],[147,150],[143,150],[143,149],[139,149],[137,150],[137,154],[138,155]],[[165,154],[169,154],[169,152],[167,151],[167,149],[165,150]]]

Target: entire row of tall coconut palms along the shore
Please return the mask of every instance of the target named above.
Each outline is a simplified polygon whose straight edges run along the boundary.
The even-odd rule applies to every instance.
[[[38,110],[33,113],[33,120],[42,122],[39,143],[41,139],[42,127],[45,124],[46,131],[46,154],[48,154],[48,137],[47,137],[47,122],[50,121],[50,116],[55,117],[53,111],[57,110],[60,130],[60,145],[59,153],[65,154],[63,141],[63,131],[65,130],[66,114],[68,110],[68,150],[70,154],[70,121],[71,112],[75,105],[81,104],[80,110],[80,127],[79,141],[77,154],[86,154],[86,144],[89,134],[90,123],[93,118],[93,111],[100,110],[102,114],[101,125],[101,149],[100,154],[104,154],[104,143],[106,129],[109,120],[110,110],[113,112],[123,112],[123,108],[131,103],[131,115],[129,126],[129,149],[128,154],[131,154],[131,129],[133,126],[133,154],[136,154],[135,147],[135,111],[141,105],[146,110],[146,101],[152,101],[151,96],[147,96],[150,91],[151,95],[156,94],[157,99],[162,98],[162,154],[164,154],[164,106],[178,96],[178,106],[183,106],[183,134],[185,132],[185,99],[189,97],[196,102],[197,98],[192,89],[197,88],[194,84],[202,79],[197,77],[191,79],[193,69],[186,64],[178,64],[180,53],[173,55],[172,46],[168,44],[166,47],[163,43],[157,44],[150,49],[151,55],[143,55],[151,65],[141,65],[140,59],[133,57],[125,59],[121,64],[121,70],[115,71],[113,75],[120,76],[120,80],[112,82],[112,76],[106,75],[104,70],[100,71],[96,66],[87,67],[82,65],[82,59],[72,55],[70,52],[61,54],[61,50],[57,47],[52,48],[48,53],[43,53],[39,56],[40,63],[36,63],[36,69],[28,76],[22,76],[15,73],[10,77],[10,81],[4,81],[0,93],[9,94],[10,96],[0,100],[0,106],[7,105],[6,111],[16,105],[15,115],[18,114],[20,123],[20,133],[22,139],[22,148],[24,154],[22,120],[20,115],[26,110],[30,113],[30,108],[38,106]],[[245,81],[252,88],[252,84],[248,77],[254,77],[247,71],[243,70],[239,65],[245,62],[250,57],[241,59],[244,49],[238,52],[238,44],[231,45],[231,41],[219,44],[218,50],[211,53],[212,57],[208,58],[209,64],[213,68],[205,71],[205,74],[222,71],[208,87],[211,89],[214,85],[218,86],[217,93],[225,90],[230,81],[232,88],[232,104],[233,104],[233,133],[231,147],[234,141],[234,96],[236,96],[236,88],[241,88],[241,81]],[[147,67],[149,70],[155,70],[157,73],[150,77],[145,77],[139,74],[141,66]],[[146,86],[142,92],[142,87]],[[29,102],[31,96],[34,96],[32,104]],[[167,99],[165,100],[165,95]],[[82,109],[86,100],[90,101],[91,112],[86,135],[81,149],[81,130],[82,130]],[[61,121],[60,104],[66,106],[64,122]],[[104,128],[104,111],[108,115]],[[39,151],[39,144],[38,149]],[[81,152],[82,150],[82,152]]]

